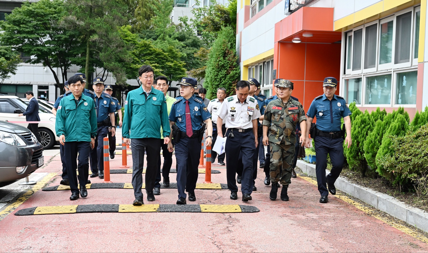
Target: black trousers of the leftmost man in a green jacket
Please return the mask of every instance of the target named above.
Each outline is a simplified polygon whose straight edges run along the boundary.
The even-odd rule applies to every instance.
[[[79,194],[76,169],[79,171],[78,178],[80,185],[86,185],[88,183],[90,150],[91,143],[89,141],[71,141],[64,144],[64,156],[65,160],[68,161],[65,166],[67,167],[71,193]],[[78,166],[76,159],[79,161]]]

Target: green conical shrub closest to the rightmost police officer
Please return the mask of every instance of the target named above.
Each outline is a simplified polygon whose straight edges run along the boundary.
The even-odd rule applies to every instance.
[[[374,123],[371,120],[370,113],[366,110],[363,114],[358,115],[352,122],[351,138],[352,145],[345,149],[346,159],[349,168],[360,170],[363,176],[366,176],[367,162],[364,157],[364,142],[367,134],[372,131]]]

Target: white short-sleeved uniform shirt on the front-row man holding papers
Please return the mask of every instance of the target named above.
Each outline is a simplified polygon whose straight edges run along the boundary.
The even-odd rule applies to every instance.
[[[211,103],[210,103],[211,104]],[[256,98],[248,96],[241,104],[236,95],[226,98],[218,116],[226,122],[226,128],[253,128],[253,119],[259,119],[260,110]]]

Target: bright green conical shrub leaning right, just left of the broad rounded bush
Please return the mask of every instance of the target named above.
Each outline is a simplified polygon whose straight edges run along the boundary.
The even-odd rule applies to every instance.
[[[402,114],[397,114],[395,116],[394,121],[389,126],[388,130],[386,130],[385,134],[382,138],[382,144],[380,145],[379,151],[376,155],[376,172],[379,173],[380,176],[385,177],[388,180],[392,179],[391,173],[385,169],[385,166],[382,164],[383,160],[386,157],[389,157],[394,152],[391,148],[392,139],[394,137],[404,136],[409,129],[409,122],[407,118]]]

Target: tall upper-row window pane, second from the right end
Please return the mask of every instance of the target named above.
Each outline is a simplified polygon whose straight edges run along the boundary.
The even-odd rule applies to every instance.
[[[397,16],[395,31],[395,64],[410,61],[412,36],[412,12]]]

